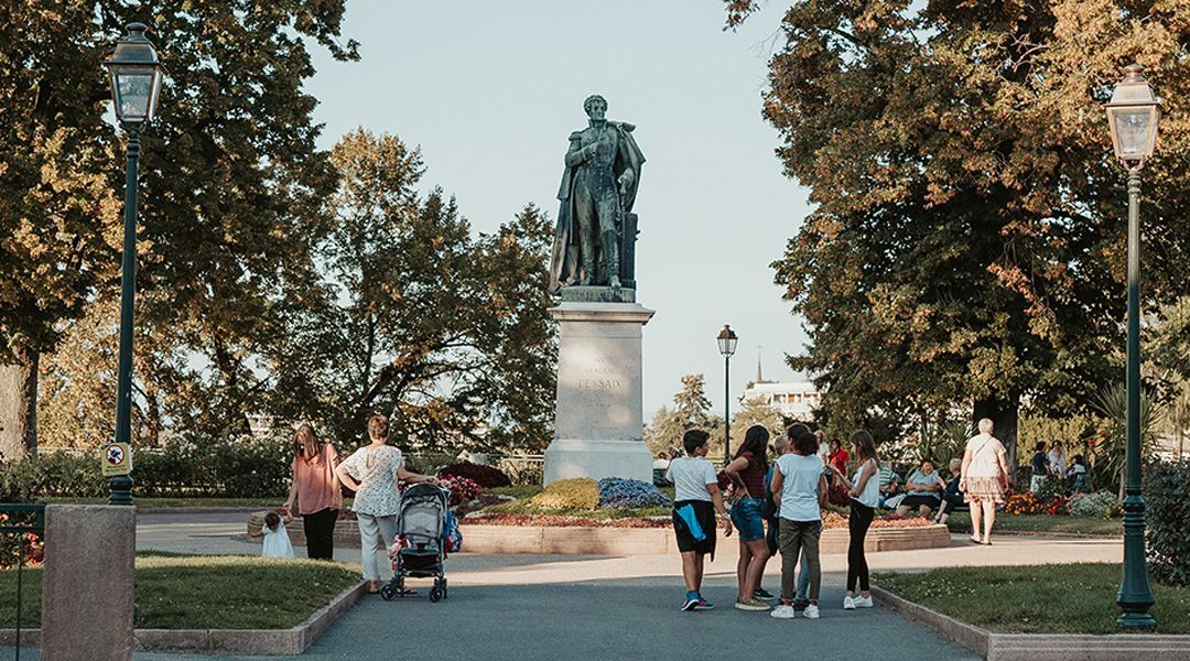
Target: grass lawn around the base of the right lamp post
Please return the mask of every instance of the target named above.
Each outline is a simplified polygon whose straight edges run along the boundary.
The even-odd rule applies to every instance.
[[[947,567],[878,573],[872,584],[997,634],[1122,634],[1120,565]],[[1190,588],[1152,581],[1159,634],[1190,634]]]

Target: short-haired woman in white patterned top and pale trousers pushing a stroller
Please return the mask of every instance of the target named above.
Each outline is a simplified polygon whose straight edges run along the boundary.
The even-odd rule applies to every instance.
[[[416,484],[437,480],[405,470],[401,451],[387,445],[387,417],[371,416],[368,437],[371,442],[339,464],[334,474],[356,492],[351,509],[356,511],[359,524],[364,580],[368,581],[368,591],[376,593],[380,592],[381,567],[387,567],[388,547],[396,537],[396,515],[401,505],[401,493],[396,489],[399,481]]]

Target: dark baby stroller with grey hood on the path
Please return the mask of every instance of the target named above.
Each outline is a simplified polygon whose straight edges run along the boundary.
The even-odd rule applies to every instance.
[[[401,493],[401,509],[396,516],[396,543],[393,559],[393,579],[380,588],[386,602],[405,597],[405,578],[433,578],[430,600],[446,598],[447,516],[450,491],[433,484],[415,484]]]

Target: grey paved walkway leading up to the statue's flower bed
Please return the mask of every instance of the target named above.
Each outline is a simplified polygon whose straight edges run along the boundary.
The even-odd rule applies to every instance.
[[[143,515],[137,548],[186,553],[259,553],[232,539],[246,515]],[[950,548],[869,555],[872,571],[923,571],[940,566],[1111,562],[1119,540],[996,539],[977,547],[957,535]],[[299,550],[301,554],[301,550]],[[776,621],[731,608],[735,592],[735,544],[721,547],[708,565],[707,598],[714,612],[678,611],[681,568],[676,556],[469,555],[451,559],[451,594],[431,604],[418,597],[386,603],[369,597],[352,609],[301,660],[389,659],[409,654],[550,660],[572,657],[879,659],[881,661],[976,659],[929,630],[876,608],[844,611],[844,555],[823,556],[822,618]],[[358,562],[358,549],[336,559]],[[765,575],[776,591],[779,562]],[[425,581],[413,581],[415,585]],[[30,650],[35,651],[35,650]],[[0,660],[12,649],[0,649]],[[23,653],[21,659],[37,659]],[[138,654],[138,661],[198,661],[209,656]],[[230,657],[228,657],[230,659]],[[237,657],[240,659],[240,657]],[[265,659],[265,657],[242,657]]]

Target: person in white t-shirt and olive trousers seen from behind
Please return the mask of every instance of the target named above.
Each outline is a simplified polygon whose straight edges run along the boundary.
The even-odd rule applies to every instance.
[[[816,619],[822,584],[819,536],[822,534],[821,508],[826,506],[825,466],[815,454],[818,443],[808,427],[794,424],[789,428],[789,439],[794,443],[794,454],[777,459],[777,470],[772,473],[772,491],[781,493],[781,605],[770,615],[783,619],[795,617],[794,571],[804,548],[809,565],[810,603],[803,613]]]

